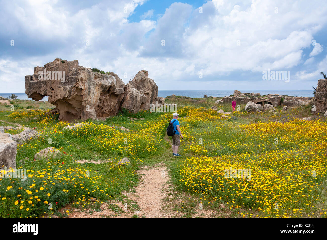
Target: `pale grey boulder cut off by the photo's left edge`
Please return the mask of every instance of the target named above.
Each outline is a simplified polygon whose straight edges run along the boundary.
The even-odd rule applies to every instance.
[[[0,133],[0,168],[16,168],[17,142],[9,133]]]

